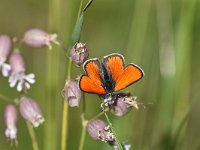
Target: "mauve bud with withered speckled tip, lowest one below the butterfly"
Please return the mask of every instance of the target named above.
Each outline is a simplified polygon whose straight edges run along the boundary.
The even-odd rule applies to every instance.
[[[94,140],[101,140],[108,143],[115,141],[110,127],[100,119],[89,121],[87,131]]]

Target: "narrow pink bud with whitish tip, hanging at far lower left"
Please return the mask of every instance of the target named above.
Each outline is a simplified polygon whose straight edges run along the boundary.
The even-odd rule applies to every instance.
[[[8,104],[4,112],[4,120],[6,123],[5,136],[11,140],[17,139],[17,109],[14,104]]]

